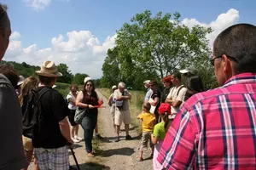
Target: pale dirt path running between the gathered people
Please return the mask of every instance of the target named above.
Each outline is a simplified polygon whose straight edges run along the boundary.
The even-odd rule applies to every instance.
[[[126,169],[134,169],[134,170],[142,170],[147,169],[151,170],[152,160],[146,159],[145,161],[137,161],[137,157],[139,156],[139,144],[140,144],[140,136],[136,133],[134,127],[131,127],[130,135],[133,140],[126,141],[125,140],[125,132],[122,130],[120,133],[120,141],[115,143],[113,142],[116,134],[113,131],[112,122],[111,122],[111,113],[108,107],[108,100],[97,91],[99,98],[102,98],[104,101],[104,108],[100,109],[98,121],[99,130],[104,137],[104,139],[100,143],[100,150],[97,152],[97,156],[94,158],[88,158],[86,152],[84,150],[84,141],[79,142],[74,145],[75,155],[79,161],[79,165],[81,170],[100,170],[100,169],[113,169],[113,170],[126,170]],[[124,129],[124,126],[121,127]],[[79,128],[79,135],[83,137],[83,130]],[[150,150],[148,149],[144,153],[144,159],[150,156]],[[71,165],[75,165],[73,161],[73,156],[70,155],[70,163]],[[29,170],[32,170],[33,166],[30,166]]]

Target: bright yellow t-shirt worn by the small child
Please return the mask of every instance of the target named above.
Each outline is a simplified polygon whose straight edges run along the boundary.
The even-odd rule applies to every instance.
[[[144,112],[139,115],[140,119],[143,119],[143,132],[153,132],[155,116],[152,113]]]

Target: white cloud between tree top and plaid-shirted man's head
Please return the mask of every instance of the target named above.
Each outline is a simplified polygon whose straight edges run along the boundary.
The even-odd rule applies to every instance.
[[[218,34],[221,31],[224,31],[224,29],[228,28],[229,26],[237,24],[238,20],[239,20],[239,11],[234,8],[230,8],[228,12],[224,14],[219,14],[218,18],[212,21],[210,24],[201,23],[196,19],[188,19],[188,18],[184,19],[182,21],[182,24],[185,26],[189,26],[189,28],[195,25],[211,27],[212,33],[208,34],[207,38],[209,39],[209,47],[212,48],[212,44],[215,38],[218,36]]]

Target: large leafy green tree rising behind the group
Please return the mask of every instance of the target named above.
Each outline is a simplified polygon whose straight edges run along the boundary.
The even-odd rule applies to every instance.
[[[210,49],[206,35],[211,28],[194,26],[189,29],[179,19],[178,13],[172,17],[172,14],[160,12],[152,17],[146,10],[117,31],[116,47],[123,78],[142,83],[136,82],[137,77],[163,78],[183,66],[204,66],[199,61],[208,60]]]

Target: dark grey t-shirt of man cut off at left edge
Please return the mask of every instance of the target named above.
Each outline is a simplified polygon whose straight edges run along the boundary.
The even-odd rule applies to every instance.
[[[28,165],[22,144],[20,102],[9,80],[0,74],[0,170]]]

